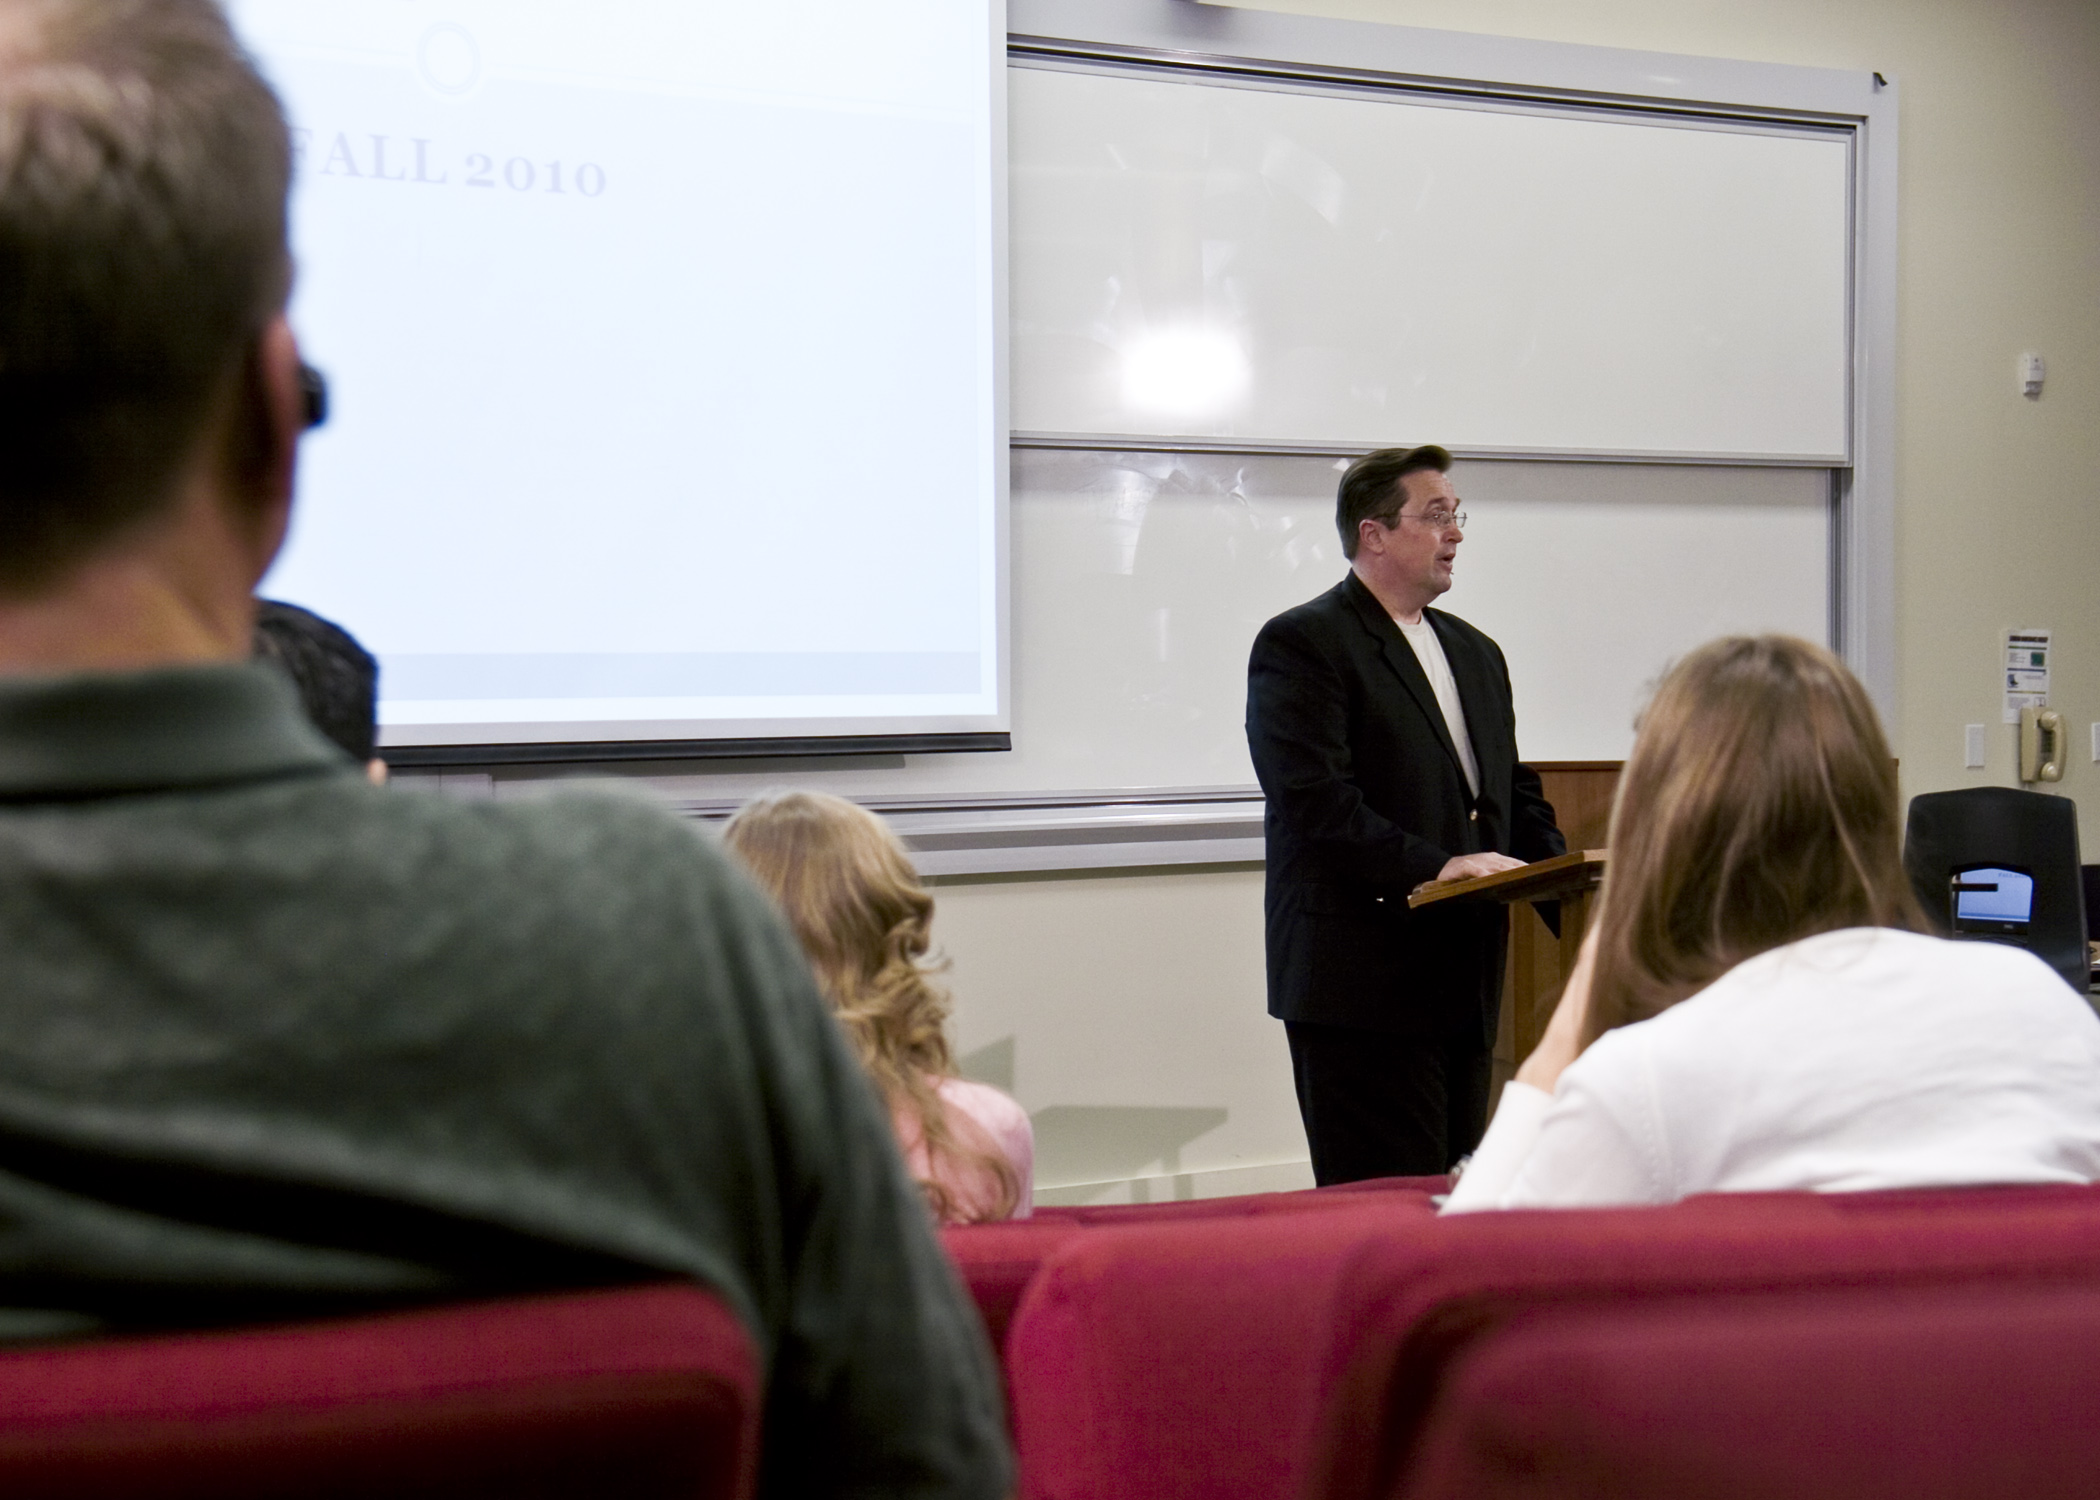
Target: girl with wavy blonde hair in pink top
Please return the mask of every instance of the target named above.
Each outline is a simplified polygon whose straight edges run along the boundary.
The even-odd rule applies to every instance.
[[[766,792],[737,809],[722,840],[788,914],[934,1216],[1027,1216],[1029,1118],[956,1076],[947,994],[928,977],[932,897],[888,826],[823,792]]]

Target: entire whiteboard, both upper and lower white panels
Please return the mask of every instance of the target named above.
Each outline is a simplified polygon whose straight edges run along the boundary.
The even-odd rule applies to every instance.
[[[1014,426],[1077,439],[1023,445],[1010,460],[1012,750],[666,765],[649,775],[664,790],[735,798],[766,784],[811,784],[937,803],[1252,786],[1247,649],[1262,622],[1344,576],[1334,529],[1342,464],[1308,452],[1201,452],[1205,437],[1220,445],[1441,441],[1628,456],[1684,447],[1682,462],[1472,458],[1453,471],[1472,523],[1457,586],[1441,605],[1502,643],[1518,746],[1533,761],[1623,758],[1651,683],[1716,634],[1783,630],[1833,643],[1833,487],[1842,477],[1833,471],[1848,393],[1850,147],[1842,139],[1646,116],[1438,107],[1390,92],[1289,92],[1289,84],[1260,92],[1130,71],[1014,67],[1008,82]],[[1340,139],[1306,128],[1344,118],[1329,109],[1354,122],[1329,130]],[[1615,158],[1621,176],[1638,151],[1661,164],[1636,183],[1642,191],[1676,193],[1680,204],[1701,191],[1726,202],[1701,212],[1630,206],[1619,237],[1642,244],[1621,246],[1623,267],[1579,277],[1573,261],[1554,261],[1573,250],[1544,244],[1537,225],[1512,229],[1504,195],[1487,193],[1478,174],[1453,181],[1449,166],[1438,168],[1428,197],[1407,179],[1415,197],[1441,206],[1438,223],[1466,225],[1460,239],[1499,246],[1506,271],[1531,265],[1558,277],[1541,284],[1512,273],[1499,303],[1476,277],[1470,294],[1489,309],[1468,324],[1451,307],[1455,296],[1396,300],[1407,282],[1394,265],[1422,277],[1443,256],[1455,284],[1487,252],[1399,235],[1430,210],[1407,218],[1415,197],[1399,202],[1390,189],[1399,176],[1380,168],[1401,155],[1361,134],[1394,120],[1426,120],[1422,132],[1453,139],[1472,139],[1480,126],[1546,130],[1535,141],[1575,130],[1560,139],[1594,143],[1606,158],[1630,141]],[[1579,134],[1590,130],[1600,134]],[[1684,166],[1686,153],[1699,158],[1697,170]],[[1334,168],[1340,195],[1315,191],[1315,160]],[[1720,170],[1730,162],[1743,181]],[[1754,170],[1756,162],[1768,170]],[[1583,170],[1581,160],[1562,162],[1562,174]],[[1386,179],[1376,204],[1369,189],[1357,191]],[[1632,191],[1625,181],[1617,189]],[[1539,191],[1558,191],[1556,181]],[[1321,216],[1312,200],[1331,214]],[[1371,208],[1388,218],[1373,221]],[[1394,233],[1380,239],[1373,223]],[[1659,286],[1670,267],[1638,263],[1653,244],[1646,229],[1634,233],[1655,223],[1676,235],[1676,254],[1703,256],[1699,246],[1707,246],[1737,271],[1707,277],[1718,284]],[[1552,225],[1562,239],[1575,229],[1573,221]],[[1602,256],[1609,229],[1592,225],[1583,254]],[[1751,254],[1745,244],[1764,250]],[[1774,265],[1800,273],[1796,294],[1756,282]],[[1743,277],[1754,286],[1737,286]],[[1604,294],[1619,298],[1621,313],[1653,317],[1583,311],[1586,298]],[[1751,311],[1758,298],[1764,305]],[[1716,321],[1716,307],[1735,321]],[[1233,412],[1170,422],[1157,408],[1124,403],[1126,336],[1172,326],[1174,309],[1195,309],[1212,330],[1245,338],[1247,391]],[[1504,324],[1520,319],[1535,347],[1508,342],[1514,334]],[[1474,326],[1487,330],[1478,349],[1468,345]],[[1693,372],[1606,378],[1611,361],[1636,361],[1630,345],[1611,342],[1628,328],[1676,336],[1680,363]],[[1182,374],[1203,370],[1201,345],[1195,353]],[[1695,399],[1695,374],[1707,382],[1703,399]],[[1403,387],[1413,391],[1411,405],[1394,395]],[[1737,395],[1716,399],[1716,387]],[[1690,431],[1697,422],[1709,426]],[[1126,433],[1142,437],[1140,447],[1182,450],[1132,452],[1119,439]],[[1758,462],[1709,462],[1741,452]],[[1772,458],[1819,466],[1762,462]]]

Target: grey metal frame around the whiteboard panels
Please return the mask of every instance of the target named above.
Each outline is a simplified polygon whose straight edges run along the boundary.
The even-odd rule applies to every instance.
[[[1636,53],[1239,11],[1195,0],[1008,0],[1008,55],[1138,63],[1298,84],[1384,84],[1579,109],[1709,113],[1852,132],[1850,462],[1829,464],[1831,643],[1896,723],[1896,86],[1880,74]],[[1130,435],[1014,433],[1016,445],[1128,450]],[[1172,452],[1231,443],[1153,439]],[[1273,452],[1264,445],[1262,452]],[[1323,450],[1325,452],[1325,450]],[[1646,454],[1466,454],[1642,462]],[[1686,462],[1684,454],[1674,462]],[[1699,460],[1690,460],[1699,462]],[[1770,462],[1716,454],[1705,462]],[[1819,462],[1816,466],[1825,466]]]

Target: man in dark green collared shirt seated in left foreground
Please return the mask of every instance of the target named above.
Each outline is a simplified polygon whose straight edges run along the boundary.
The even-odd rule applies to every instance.
[[[775,1496],[1010,1489],[983,1328],[764,897],[372,786],[250,662],[290,141],[210,0],[0,0],[0,1334],[691,1277]]]

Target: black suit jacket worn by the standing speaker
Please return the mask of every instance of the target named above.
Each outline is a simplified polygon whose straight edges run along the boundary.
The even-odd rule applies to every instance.
[[[1502,647],[1426,609],[1480,794],[1422,662],[1350,574],[1262,626],[1247,662],[1247,746],[1268,796],[1268,1013],[1371,1032],[1495,1040],[1508,914],[1407,910],[1453,855],[1567,851],[1537,773],[1516,758]]]

